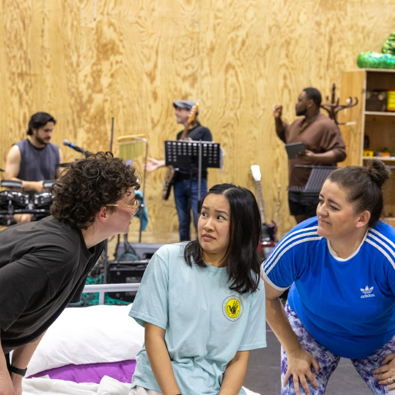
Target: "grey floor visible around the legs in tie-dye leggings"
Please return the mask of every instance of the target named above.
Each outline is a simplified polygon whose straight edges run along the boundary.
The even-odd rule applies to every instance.
[[[267,347],[250,353],[244,386],[261,395],[280,395],[280,344],[267,332]],[[372,395],[349,360],[342,358],[329,379],[326,395]]]

